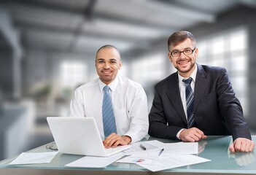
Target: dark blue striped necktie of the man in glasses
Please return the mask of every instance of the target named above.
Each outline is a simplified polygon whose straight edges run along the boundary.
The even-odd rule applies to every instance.
[[[185,83],[185,86],[186,86],[187,127],[191,128],[195,123],[195,118],[193,117],[194,93],[190,86],[190,83],[192,82],[192,78],[190,77],[189,79],[183,79],[182,81]]]

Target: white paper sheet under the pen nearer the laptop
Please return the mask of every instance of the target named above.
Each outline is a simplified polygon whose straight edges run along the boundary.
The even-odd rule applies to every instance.
[[[146,147],[146,150],[141,149],[140,144],[142,144],[144,147]],[[152,141],[139,141],[134,144],[131,144],[131,148],[125,150],[123,153],[125,155],[136,155],[138,153],[146,154],[149,151],[152,151],[154,149],[158,149],[159,147],[163,147],[164,143],[157,140]]]

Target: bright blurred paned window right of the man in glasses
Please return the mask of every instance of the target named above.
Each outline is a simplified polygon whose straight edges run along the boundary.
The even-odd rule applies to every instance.
[[[236,97],[247,116],[247,28],[198,39],[198,63],[227,69]]]

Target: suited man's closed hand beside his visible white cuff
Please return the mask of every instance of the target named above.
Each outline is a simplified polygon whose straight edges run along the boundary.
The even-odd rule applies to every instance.
[[[195,142],[206,138],[207,136],[205,136],[203,131],[199,130],[198,128],[185,129],[179,134],[179,139],[182,141]]]

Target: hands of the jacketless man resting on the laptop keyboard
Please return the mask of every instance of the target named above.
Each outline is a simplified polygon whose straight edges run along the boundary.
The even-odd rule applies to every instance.
[[[103,141],[104,147],[117,147],[117,145],[127,145],[131,143],[131,137],[129,136],[119,136],[116,133],[112,133],[106,137]]]

